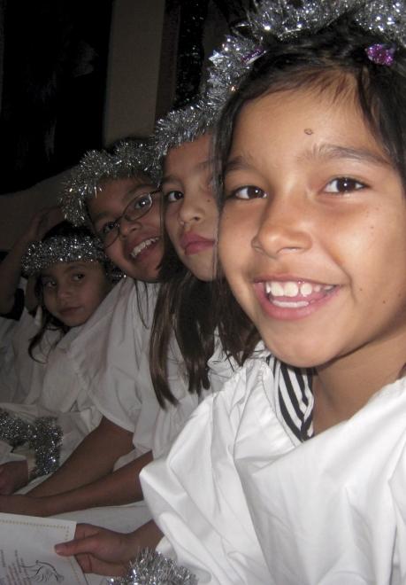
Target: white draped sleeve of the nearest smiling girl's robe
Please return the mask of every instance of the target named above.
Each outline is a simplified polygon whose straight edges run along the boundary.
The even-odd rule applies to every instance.
[[[243,373],[195,409],[166,458],[142,470],[142,491],[165,534],[158,550],[202,583],[264,585],[233,446],[245,402]]]

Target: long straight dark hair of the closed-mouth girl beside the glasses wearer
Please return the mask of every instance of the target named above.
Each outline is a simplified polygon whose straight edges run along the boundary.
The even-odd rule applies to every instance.
[[[165,214],[165,203],[161,209]],[[163,238],[165,252],[149,343],[149,370],[157,401],[165,408],[165,400],[172,404],[178,402],[167,375],[173,333],[184,360],[188,391],[200,395],[202,388],[210,387],[207,363],[214,351],[217,318],[212,310],[212,283],[196,278],[182,264],[166,233]]]

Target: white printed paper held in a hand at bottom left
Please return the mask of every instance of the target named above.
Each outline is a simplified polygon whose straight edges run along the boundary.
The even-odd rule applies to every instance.
[[[0,585],[87,585],[73,557],[59,557],[57,542],[73,539],[76,523],[0,513]]]

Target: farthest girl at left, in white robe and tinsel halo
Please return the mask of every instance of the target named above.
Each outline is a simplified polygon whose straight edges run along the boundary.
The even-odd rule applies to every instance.
[[[98,425],[100,413],[75,374],[68,349],[111,290],[111,266],[95,238],[68,222],[30,244],[21,267],[35,278],[41,314],[32,317],[38,321],[34,336],[19,348],[33,361],[29,392],[22,402],[0,403],[2,460],[7,460],[0,465],[3,494],[55,471]]]

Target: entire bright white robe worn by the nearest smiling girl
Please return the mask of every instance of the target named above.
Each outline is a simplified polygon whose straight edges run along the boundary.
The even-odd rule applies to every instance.
[[[249,360],[142,471],[158,549],[202,583],[406,583],[405,378],[299,444],[276,389]]]

